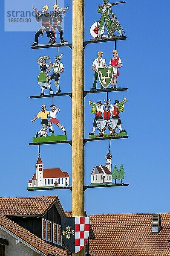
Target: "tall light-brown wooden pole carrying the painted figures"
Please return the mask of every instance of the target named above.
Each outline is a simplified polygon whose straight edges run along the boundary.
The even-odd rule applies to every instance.
[[[72,216],[84,216],[84,0],[72,1]],[[73,253],[84,256],[84,250]]]

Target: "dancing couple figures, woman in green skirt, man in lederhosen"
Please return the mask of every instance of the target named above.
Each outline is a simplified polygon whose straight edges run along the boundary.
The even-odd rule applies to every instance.
[[[48,56],[43,56],[37,59],[37,62],[40,66],[40,73],[38,75],[37,81],[38,84],[41,87],[42,93],[40,93],[40,96],[44,95],[44,89],[49,88],[49,91],[53,94],[53,90],[50,86],[51,80],[55,80],[55,86],[57,88],[56,94],[61,93],[60,86],[59,86],[59,78],[60,74],[64,72],[64,66],[63,63],[60,62],[61,58],[63,56],[63,53],[60,56],[55,57],[55,62],[52,63],[50,58]],[[46,60],[49,60],[49,65],[46,64]],[[53,70],[53,74],[49,76],[49,72],[51,71],[51,68]]]

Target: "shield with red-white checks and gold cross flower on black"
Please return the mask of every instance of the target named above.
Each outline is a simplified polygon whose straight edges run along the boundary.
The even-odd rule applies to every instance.
[[[72,253],[78,253],[89,238],[89,217],[61,218],[62,239]]]

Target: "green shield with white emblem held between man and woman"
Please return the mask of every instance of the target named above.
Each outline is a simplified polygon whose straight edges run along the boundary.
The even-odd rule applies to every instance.
[[[113,79],[113,67],[99,67],[98,72],[98,79],[104,89],[106,89]]]

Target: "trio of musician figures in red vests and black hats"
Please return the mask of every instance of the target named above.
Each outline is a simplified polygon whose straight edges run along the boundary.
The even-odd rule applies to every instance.
[[[115,100],[114,106],[110,102],[105,102],[102,105],[101,100],[97,103],[93,103],[96,105],[96,113],[95,113],[95,119],[93,122],[92,132],[89,133],[89,135],[95,135],[95,130],[97,128],[96,120],[99,120],[99,119],[109,120],[110,118],[118,119],[118,128],[119,128],[120,132],[121,133],[126,132],[125,130],[122,129],[121,119],[119,117],[119,110],[118,110],[119,103],[120,102],[117,99]],[[106,110],[104,110],[104,107],[106,108]],[[102,114],[103,114],[103,116],[102,116]],[[112,131],[109,131],[109,132],[110,132],[110,134],[112,134]],[[103,135],[101,135],[101,137],[103,137]]]

